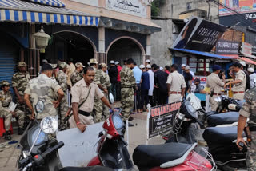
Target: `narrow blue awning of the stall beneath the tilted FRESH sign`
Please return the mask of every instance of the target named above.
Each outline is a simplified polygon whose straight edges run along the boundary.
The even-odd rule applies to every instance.
[[[234,59],[234,58],[228,57],[228,56],[222,56],[222,55],[218,55],[218,54],[210,54],[210,53],[207,53],[207,52],[201,52],[201,51],[197,51],[197,50],[178,49],[178,48],[170,48],[170,50],[174,50],[174,51],[178,51],[178,52],[182,52],[182,53],[186,53],[186,54],[194,54],[194,55],[199,55],[199,56],[205,56],[205,57],[208,57],[208,58]]]

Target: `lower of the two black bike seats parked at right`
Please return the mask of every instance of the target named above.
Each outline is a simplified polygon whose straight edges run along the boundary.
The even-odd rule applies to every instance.
[[[234,140],[237,139],[238,127],[209,127],[206,128],[202,137],[206,142],[218,143],[218,144],[231,144]],[[242,134],[243,137],[246,137],[246,134]]]

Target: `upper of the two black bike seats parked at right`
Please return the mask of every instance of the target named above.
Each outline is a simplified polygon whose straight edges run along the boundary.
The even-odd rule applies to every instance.
[[[207,123],[209,127],[214,127],[217,125],[233,124],[238,121],[238,112],[227,112],[211,115],[207,118]]]

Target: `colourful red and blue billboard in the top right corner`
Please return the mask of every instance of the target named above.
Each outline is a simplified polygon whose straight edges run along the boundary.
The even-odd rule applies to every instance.
[[[256,11],[256,1],[255,0],[219,0],[219,15],[233,15],[234,12],[230,12],[224,6],[238,11],[238,13],[252,13]]]

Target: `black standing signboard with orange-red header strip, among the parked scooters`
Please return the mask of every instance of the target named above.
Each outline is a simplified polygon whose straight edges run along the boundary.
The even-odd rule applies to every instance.
[[[172,128],[172,117],[180,109],[182,102],[160,105],[150,109],[148,118],[148,138],[162,135]]]

